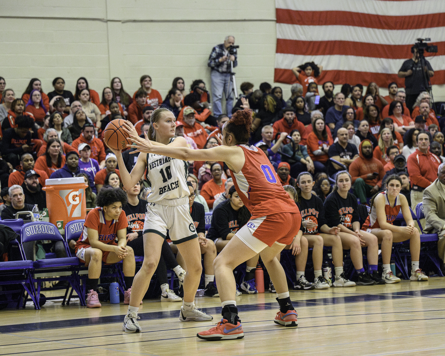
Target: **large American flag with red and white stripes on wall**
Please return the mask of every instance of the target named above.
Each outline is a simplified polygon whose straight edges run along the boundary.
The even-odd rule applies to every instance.
[[[425,52],[431,82],[445,84],[444,0],[275,0],[275,8],[275,82],[295,83],[291,69],[314,61],[323,65],[320,85],[404,87],[397,72],[417,38],[430,37],[438,47]]]

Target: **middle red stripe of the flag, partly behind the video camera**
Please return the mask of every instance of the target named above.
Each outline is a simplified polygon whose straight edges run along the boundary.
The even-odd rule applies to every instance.
[[[445,42],[438,42],[437,53],[425,52],[425,57],[445,54]],[[388,59],[408,59],[412,44],[393,45],[352,41],[302,41],[277,38],[276,53],[303,56],[344,55]]]

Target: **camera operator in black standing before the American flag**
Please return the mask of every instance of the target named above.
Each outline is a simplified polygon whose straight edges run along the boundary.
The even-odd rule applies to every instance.
[[[420,43],[421,45],[423,43]],[[399,73],[397,76],[399,78],[405,78],[405,92],[406,92],[406,106],[408,106],[409,113],[413,112],[413,105],[416,102],[417,97],[423,91],[428,91],[428,82],[426,82],[425,74],[428,71],[428,77],[433,77],[434,71],[429,61],[424,58],[424,68],[422,69],[421,56],[423,57],[423,48],[418,48],[418,43],[411,47],[411,52],[413,53],[413,58],[403,62]],[[426,45],[426,44],[425,44]],[[427,52],[428,49],[427,49]],[[425,72],[425,74],[422,72]]]

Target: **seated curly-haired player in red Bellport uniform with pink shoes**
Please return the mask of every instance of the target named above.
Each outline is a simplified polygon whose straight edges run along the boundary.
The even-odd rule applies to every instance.
[[[136,262],[133,249],[126,246],[128,222],[122,205],[127,201],[127,194],[120,188],[102,188],[96,197],[98,207],[88,213],[84,231],[74,248],[81,263],[88,266],[86,290],[89,308],[101,307],[96,288],[102,262],[118,263],[122,260],[125,287],[128,288],[124,304],[129,303]],[[114,241],[116,238],[117,243]]]

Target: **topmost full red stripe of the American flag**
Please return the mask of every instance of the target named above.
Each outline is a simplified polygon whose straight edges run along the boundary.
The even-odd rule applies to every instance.
[[[444,14],[434,13],[411,16],[382,16],[350,11],[296,11],[276,9],[277,23],[300,26],[359,26],[384,30],[411,30],[441,27]]]

